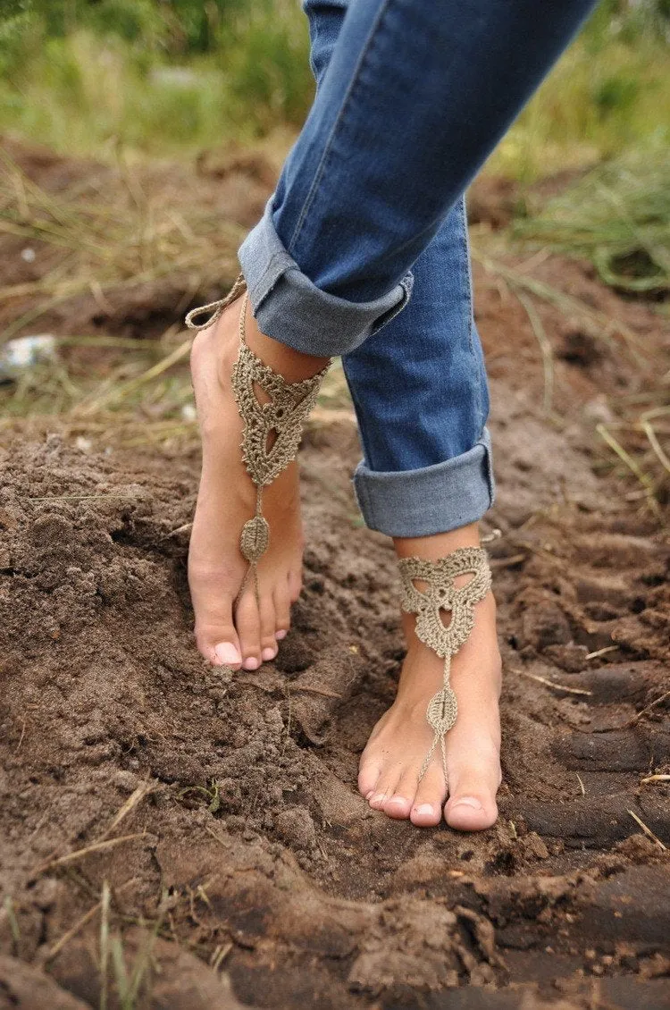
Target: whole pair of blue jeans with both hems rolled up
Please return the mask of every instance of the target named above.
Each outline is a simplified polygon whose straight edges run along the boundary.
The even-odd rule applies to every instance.
[[[306,0],[317,95],[240,263],[260,329],[342,355],[366,523],[493,498],[463,193],[593,0]]]

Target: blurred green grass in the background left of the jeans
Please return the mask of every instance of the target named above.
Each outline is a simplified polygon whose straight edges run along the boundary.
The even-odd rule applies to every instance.
[[[52,35],[24,15],[4,33],[0,131],[71,155],[192,154],[298,128],[312,100],[307,21],[292,0],[233,10],[206,53],[176,52],[175,31],[169,46],[155,28],[133,37],[85,19]]]

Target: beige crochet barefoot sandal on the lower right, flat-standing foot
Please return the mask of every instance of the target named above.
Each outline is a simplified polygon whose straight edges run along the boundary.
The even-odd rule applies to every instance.
[[[437,562],[422,558],[404,558],[400,562],[403,580],[403,609],[417,615],[417,637],[444,660],[442,688],[428,703],[426,718],[434,730],[433,742],[419,773],[423,779],[433,760],[438,743],[442,752],[442,770],[447,781],[447,753],[444,736],[456,721],[456,695],[451,683],[451,656],[454,655],[474,625],[474,604],[490,589],[490,569],[483,547],[458,547]],[[463,586],[456,586],[458,576],[471,575]],[[419,589],[417,582],[425,583]],[[451,615],[445,626],[441,612]]]

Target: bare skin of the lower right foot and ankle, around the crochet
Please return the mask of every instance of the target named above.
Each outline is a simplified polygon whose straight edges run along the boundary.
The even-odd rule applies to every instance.
[[[437,536],[399,539],[396,549],[401,558],[436,561],[456,547],[478,543],[473,524]],[[446,735],[449,799],[444,816],[461,831],[479,831],[494,823],[500,784],[500,656],[491,592],[475,604],[474,614],[472,633],[451,661],[458,717]],[[408,653],[398,695],[361,755],[358,788],[374,810],[431,827],[440,822],[447,797],[439,747],[421,783],[419,773],[433,739],[426,709],[442,687],[444,665],[417,638],[414,615],[403,614],[403,629]]]

